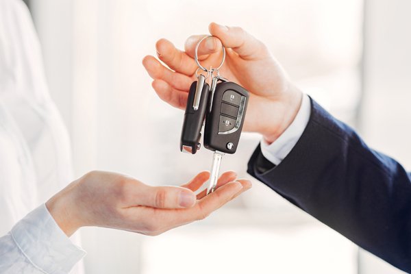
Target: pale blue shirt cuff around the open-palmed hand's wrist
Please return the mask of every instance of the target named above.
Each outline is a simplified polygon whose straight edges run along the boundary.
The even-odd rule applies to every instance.
[[[44,273],[69,273],[86,252],[73,245],[43,203],[10,232],[21,253]]]

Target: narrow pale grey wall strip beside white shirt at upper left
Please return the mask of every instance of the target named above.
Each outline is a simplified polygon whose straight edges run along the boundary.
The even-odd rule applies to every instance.
[[[73,3],[36,0],[30,9],[40,43],[51,97],[71,132],[73,90]]]

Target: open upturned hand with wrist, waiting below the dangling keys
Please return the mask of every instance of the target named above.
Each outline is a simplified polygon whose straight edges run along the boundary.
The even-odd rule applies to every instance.
[[[158,235],[173,227],[206,218],[245,190],[251,182],[229,171],[210,195],[198,190],[210,177],[199,173],[187,184],[147,186],[118,173],[92,171],[47,201],[56,223],[68,236],[79,227],[99,226]]]

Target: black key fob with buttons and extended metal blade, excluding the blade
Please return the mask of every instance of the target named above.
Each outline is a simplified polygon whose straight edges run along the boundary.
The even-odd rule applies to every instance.
[[[237,150],[249,100],[249,92],[233,82],[216,85],[206,116],[204,147],[233,154]]]

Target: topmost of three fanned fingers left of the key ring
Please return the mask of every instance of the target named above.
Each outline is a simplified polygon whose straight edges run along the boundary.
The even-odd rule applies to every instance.
[[[155,44],[157,55],[170,69],[183,73],[185,75],[193,75],[197,69],[197,64],[184,51],[177,49],[172,42],[166,39],[160,39]]]

